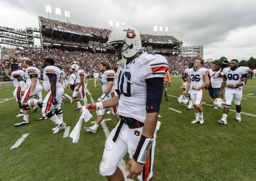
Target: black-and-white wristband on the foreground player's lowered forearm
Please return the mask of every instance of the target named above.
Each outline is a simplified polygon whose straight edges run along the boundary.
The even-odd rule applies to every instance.
[[[153,139],[141,135],[138,146],[133,155],[133,158],[136,162],[140,164],[146,163],[153,141]]]

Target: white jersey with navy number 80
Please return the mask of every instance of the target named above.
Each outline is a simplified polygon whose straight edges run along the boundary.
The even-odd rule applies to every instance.
[[[250,68],[247,66],[240,66],[234,71],[232,71],[230,67],[223,69],[224,78],[227,78],[226,84],[237,84],[242,82],[242,76],[248,72],[250,72]]]

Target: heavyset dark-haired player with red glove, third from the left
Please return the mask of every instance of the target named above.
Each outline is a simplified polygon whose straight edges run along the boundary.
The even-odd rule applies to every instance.
[[[59,133],[66,124],[63,123],[63,111],[61,110],[61,96],[64,93],[64,89],[60,84],[61,70],[54,66],[55,62],[52,58],[46,58],[43,62],[43,88],[48,94],[43,100],[43,111],[47,118],[50,118],[56,127],[52,130],[53,134]],[[52,109],[55,111],[53,112]]]

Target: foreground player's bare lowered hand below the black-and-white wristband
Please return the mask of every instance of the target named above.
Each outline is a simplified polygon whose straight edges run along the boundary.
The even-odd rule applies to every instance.
[[[129,160],[129,162],[124,170],[125,172],[127,172],[130,168],[130,171],[126,178],[130,178],[130,179],[137,178],[143,171],[143,167],[144,167],[144,164],[140,164],[140,163],[136,162],[132,157]]]

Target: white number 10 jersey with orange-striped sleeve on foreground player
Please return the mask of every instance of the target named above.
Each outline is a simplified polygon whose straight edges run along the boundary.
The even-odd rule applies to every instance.
[[[149,78],[165,78],[168,63],[164,56],[151,52],[142,53],[138,58],[126,64],[126,69],[120,67],[118,74],[118,90],[120,99],[119,115],[145,122],[147,83]],[[124,73],[125,72],[125,73]],[[128,82],[125,77],[131,81]]]

